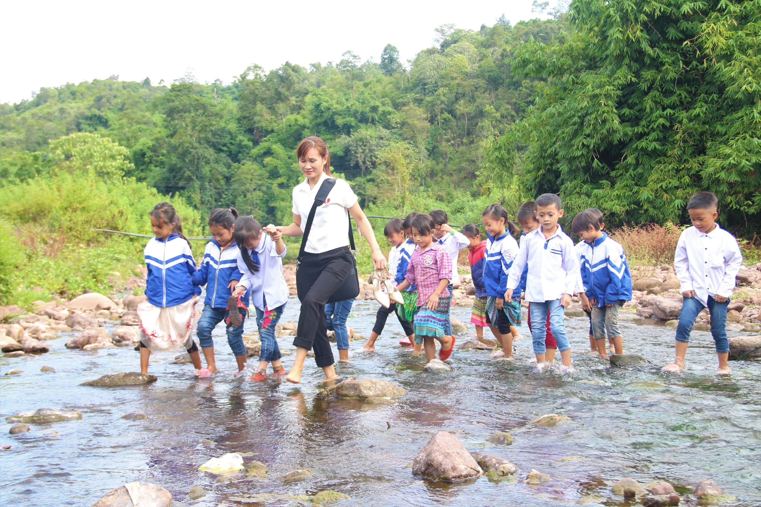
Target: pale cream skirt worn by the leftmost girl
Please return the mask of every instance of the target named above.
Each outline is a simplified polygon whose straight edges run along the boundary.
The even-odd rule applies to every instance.
[[[189,349],[198,323],[199,296],[176,306],[153,306],[148,301],[138,305],[140,341],[151,350]]]

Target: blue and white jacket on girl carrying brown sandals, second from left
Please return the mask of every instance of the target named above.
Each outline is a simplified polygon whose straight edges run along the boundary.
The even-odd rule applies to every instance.
[[[238,248],[232,242],[226,249],[222,249],[216,239],[209,239],[206,243],[201,267],[193,273],[193,284],[206,286],[206,299],[203,303],[212,308],[224,308],[228,306],[230,280],[240,280],[243,277],[237,268]],[[248,306],[248,290],[240,298]]]

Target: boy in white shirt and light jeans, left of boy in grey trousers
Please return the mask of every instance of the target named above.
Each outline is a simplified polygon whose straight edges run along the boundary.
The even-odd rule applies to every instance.
[[[558,225],[559,218],[563,216],[560,198],[555,194],[543,194],[537,198],[535,205],[534,214],[541,227],[527,233],[521,240],[518,255],[510,269],[505,301],[511,300],[513,290],[521,283],[524,267],[528,265],[526,299],[531,303],[531,337],[533,353],[537,356],[537,367],[533,371],[543,372],[549,367],[544,356],[549,313],[549,328],[563,361],[558,372],[570,373],[573,368],[571,346],[565,335],[565,309],[571,304],[571,296],[577,289],[578,257],[573,241]]]

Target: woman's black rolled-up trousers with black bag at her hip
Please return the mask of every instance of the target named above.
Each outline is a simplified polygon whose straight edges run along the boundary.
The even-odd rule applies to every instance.
[[[325,325],[325,305],[346,277],[354,276],[352,251],[344,246],[317,254],[304,252],[298,271],[304,287],[310,289],[303,298],[299,296],[301,312],[298,315],[298,336],[293,344],[307,350],[314,349],[315,363],[324,368],[335,363]]]

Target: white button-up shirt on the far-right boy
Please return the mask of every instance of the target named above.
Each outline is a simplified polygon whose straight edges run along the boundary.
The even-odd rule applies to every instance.
[[[673,268],[681,284],[680,291],[694,290],[703,306],[708,296],[732,296],[735,277],[743,264],[737,239],[716,224],[710,233],[694,226],[682,231],[673,254]]]

